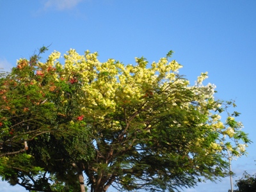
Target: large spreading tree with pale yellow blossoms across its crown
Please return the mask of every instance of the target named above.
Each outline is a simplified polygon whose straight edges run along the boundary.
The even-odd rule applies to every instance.
[[[239,113],[227,113],[221,122],[220,115],[236,105],[214,99],[215,86],[202,84],[207,73],[189,84],[179,76],[182,66],[168,61],[171,55],[151,67],[145,58],[136,58],[135,65],[113,59],[100,63],[97,52],[79,55],[74,49],[64,55],[63,65],[60,52],[28,70],[18,61],[8,82],[24,72],[31,78],[28,83],[37,84],[36,93],[42,93],[36,106],[51,106],[49,116],[36,114],[41,129],[47,125],[54,131],[36,136],[27,132],[33,138],[26,151],[35,159],[33,166],[64,182],[77,174],[81,191],[84,172],[95,192],[111,185],[129,191],[173,191],[195,186],[202,177],[228,175],[225,150],[241,156],[250,143],[235,120]],[[10,131],[10,125],[7,128]]]

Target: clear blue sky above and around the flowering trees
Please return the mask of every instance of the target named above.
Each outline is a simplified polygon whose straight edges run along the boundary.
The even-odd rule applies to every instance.
[[[216,99],[235,99],[244,131],[256,143],[256,1],[174,0],[0,0],[0,68],[9,70],[42,45],[64,54],[89,49],[125,64],[144,56],[151,63],[171,49],[194,83],[201,72],[217,86]],[[43,60],[44,60],[43,59]],[[256,173],[255,143],[248,156],[232,161],[241,177]],[[198,184],[186,192],[227,192],[229,178]],[[25,191],[0,182],[1,191]],[[110,192],[111,190],[109,190]]]

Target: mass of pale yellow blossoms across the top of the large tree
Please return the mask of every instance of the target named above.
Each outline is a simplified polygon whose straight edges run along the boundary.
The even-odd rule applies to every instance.
[[[84,55],[80,55],[75,49],[70,49],[67,54],[64,54],[65,64],[61,65],[58,62],[60,52],[54,51],[47,62],[40,63],[40,65],[61,68],[62,72],[52,74],[56,81],[65,79],[68,82],[72,79],[72,82],[81,83],[81,90],[84,93],[84,96],[81,97],[81,103],[83,103],[81,111],[84,115],[92,116],[99,122],[104,122],[106,115],[118,111],[124,106],[145,103],[141,109],[147,108],[147,99],[154,97],[155,100],[168,102],[172,106],[171,108],[178,106],[182,110],[196,108],[202,115],[207,116],[205,127],[221,132],[223,136],[228,135],[230,138],[234,136],[236,130],[232,127],[226,128],[220,121],[220,115],[211,113],[211,110],[216,111],[217,108],[220,108],[221,104],[216,102],[213,97],[216,86],[210,83],[206,86],[202,84],[208,77],[207,72],[197,78],[195,86],[189,86],[187,79],[179,77],[178,72],[182,65],[175,60],[169,62],[167,58],[161,58],[148,67],[148,62],[143,58],[135,58],[136,65],[124,65],[113,59],[101,63],[97,56],[97,52],[85,51]],[[18,61],[18,63],[20,62],[22,60]],[[81,79],[76,79],[78,77]],[[51,89],[55,90],[55,87],[51,86]],[[161,90],[168,94],[163,97],[164,94],[157,93],[157,89],[159,92]],[[192,92],[195,95],[194,100],[180,102],[178,94],[180,90]],[[192,105],[191,102],[194,102],[195,105]],[[170,109],[163,110],[167,112]],[[148,111],[150,112],[150,108]],[[199,119],[196,115],[194,118]],[[228,117],[227,121],[232,120],[232,117]],[[185,120],[183,124],[189,124],[189,121]],[[170,127],[173,126],[181,127],[182,125],[174,120]],[[237,123],[237,127],[241,126]],[[108,126],[106,124],[105,128],[118,130],[121,129],[121,125],[115,121]],[[200,142],[198,141],[198,145]],[[240,148],[243,151],[243,147]],[[221,150],[220,144],[212,143],[212,149]]]

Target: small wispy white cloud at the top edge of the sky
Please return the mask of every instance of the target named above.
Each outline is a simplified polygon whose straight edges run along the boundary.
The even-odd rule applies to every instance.
[[[56,8],[57,10],[70,10],[83,0],[47,0],[44,8]]]

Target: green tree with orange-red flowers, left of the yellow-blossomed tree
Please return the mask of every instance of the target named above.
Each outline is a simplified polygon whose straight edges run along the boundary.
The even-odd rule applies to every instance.
[[[45,49],[46,47],[40,49],[40,54]],[[55,81],[52,74],[56,68],[41,68],[38,59],[39,54],[32,56],[30,60],[20,59],[17,67],[10,74],[2,74],[0,79],[0,174],[10,184],[19,184],[28,190],[56,191],[51,186],[54,174],[46,174],[52,173],[52,166],[49,164],[54,164],[55,168],[61,170],[65,166],[70,169],[71,155],[74,152],[70,152],[68,156],[67,150],[72,148],[73,143],[77,145],[76,136],[81,132],[81,126],[76,129],[76,124],[68,125],[68,122],[72,122],[72,115],[76,115],[76,109],[72,108],[78,104],[77,99],[74,99],[77,95],[71,96],[76,92],[76,86],[60,83],[56,90],[56,86],[52,84]],[[67,104],[63,104],[63,99]],[[79,137],[83,138],[82,132]],[[56,148],[58,143],[60,146]],[[63,143],[68,147],[64,148]],[[84,152],[86,143],[81,146]],[[60,153],[63,153],[61,157]],[[56,161],[63,157],[65,161]],[[75,172],[70,170],[69,174],[74,175]],[[77,180],[70,178],[68,182],[65,181],[65,188],[69,186],[68,189],[76,189]],[[61,183],[63,180],[55,181]],[[75,188],[72,182],[76,183]],[[84,186],[81,188],[84,189]]]

